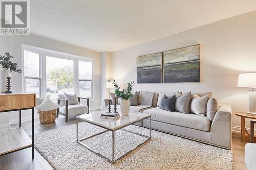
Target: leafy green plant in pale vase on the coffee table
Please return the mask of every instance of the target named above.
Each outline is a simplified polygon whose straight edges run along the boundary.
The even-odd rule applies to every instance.
[[[116,88],[115,94],[117,98],[121,99],[120,101],[120,109],[123,116],[127,116],[130,112],[130,106],[131,102],[129,98],[133,97],[132,94],[132,86],[135,84],[134,82],[127,83],[127,89],[120,90],[120,87],[116,83],[116,81],[113,81],[113,84]]]

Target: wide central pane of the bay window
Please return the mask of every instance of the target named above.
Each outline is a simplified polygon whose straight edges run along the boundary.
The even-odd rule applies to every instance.
[[[74,93],[74,61],[46,57],[46,95],[57,99],[58,93]]]

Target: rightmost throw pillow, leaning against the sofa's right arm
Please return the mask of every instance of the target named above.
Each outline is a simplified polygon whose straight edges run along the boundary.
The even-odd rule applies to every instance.
[[[206,115],[210,122],[214,120],[216,112],[219,110],[219,102],[216,98],[210,98],[207,102]]]

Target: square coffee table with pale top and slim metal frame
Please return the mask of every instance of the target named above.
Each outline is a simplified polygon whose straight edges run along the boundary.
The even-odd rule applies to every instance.
[[[96,113],[90,113],[90,114],[84,114],[76,117],[76,141],[83,145],[83,147],[86,147],[88,150],[92,151],[96,155],[108,160],[111,163],[116,163],[118,160],[122,159],[124,156],[129,154],[130,152],[134,151],[136,148],[140,147],[143,143],[151,139],[151,115],[150,114],[145,114],[145,113],[137,113],[137,112],[130,112],[128,116],[120,116],[118,119],[106,119],[106,118],[100,118],[100,114],[104,113],[102,111],[96,112]],[[136,132],[132,132],[126,129],[122,129],[124,127],[130,126],[136,122],[139,122],[140,120],[149,118],[150,119],[150,129],[149,129],[149,136],[142,135]],[[90,124],[93,124],[95,126],[101,127],[106,129],[103,132],[96,133],[94,135],[84,137],[82,139],[79,139],[78,137],[78,120],[82,120],[83,122],[87,122]],[[117,130],[124,130],[126,132],[130,132],[139,136],[146,137],[146,140],[144,140],[142,143],[139,143],[136,148],[133,150],[125,153],[124,155],[120,156],[119,158],[115,159],[115,131]],[[92,148],[90,148],[88,145],[82,143],[82,140],[89,139],[91,137],[94,137],[96,135],[105,133],[107,131],[112,131],[112,159],[109,159],[97,151],[94,151]]]

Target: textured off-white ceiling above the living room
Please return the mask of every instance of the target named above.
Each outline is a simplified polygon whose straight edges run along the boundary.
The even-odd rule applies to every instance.
[[[31,33],[116,51],[256,10],[255,0],[32,0]]]

